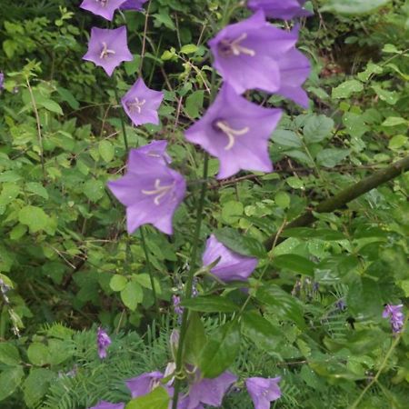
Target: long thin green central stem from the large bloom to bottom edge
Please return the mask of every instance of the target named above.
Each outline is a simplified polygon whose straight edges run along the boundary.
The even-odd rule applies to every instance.
[[[186,281],[186,288],[185,288],[185,299],[189,299],[192,297],[192,290],[193,290],[193,281],[196,269],[196,257],[197,251],[199,248],[199,239],[200,239],[200,231],[202,227],[202,220],[203,220],[203,210],[205,207],[205,195],[207,190],[207,175],[209,170],[209,155],[205,153],[205,163],[203,166],[203,183],[202,189],[200,192],[200,197],[198,200],[197,205],[197,212],[196,212],[196,225],[195,225],[195,235],[194,235],[194,244],[192,247],[192,254],[191,254],[191,266],[189,270],[189,275],[187,276]],[[185,335],[187,331],[187,308],[184,310],[184,314],[182,315],[182,325],[180,329],[180,337],[179,337],[179,345],[177,347],[177,355],[176,355],[176,374],[180,374],[182,371],[183,365],[183,354],[184,354],[184,344],[185,344]],[[175,378],[175,393],[174,393],[174,402],[172,404],[172,409],[177,409],[177,401],[179,398],[179,392],[181,387],[181,379],[176,376]]]

